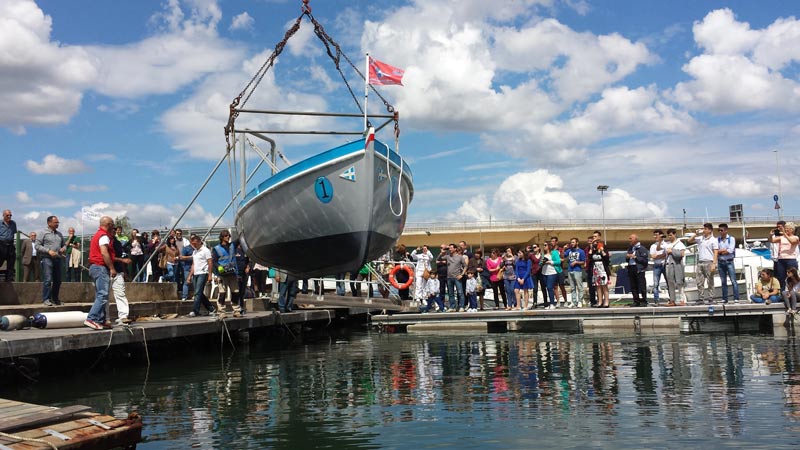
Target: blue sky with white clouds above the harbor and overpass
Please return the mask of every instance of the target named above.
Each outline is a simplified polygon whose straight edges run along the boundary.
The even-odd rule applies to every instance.
[[[55,214],[88,233],[83,208],[171,226],[225,154],[231,101],[300,5],[0,0],[0,208],[25,232]],[[403,86],[379,91],[400,112],[414,173],[409,223],[722,217],[733,204],[777,217],[779,192],[782,213],[800,215],[796,2],[310,5],[359,68],[369,52],[405,70]],[[361,100],[363,81],[342,67]],[[306,19],[247,106],[359,112]],[[253,115],[237,125],[363,128]],[[275,137],[292,163],[351,139]],[[609,186],[602,209],[598,185]],[[223,164],[179,226],[210,225],[237,188]]]

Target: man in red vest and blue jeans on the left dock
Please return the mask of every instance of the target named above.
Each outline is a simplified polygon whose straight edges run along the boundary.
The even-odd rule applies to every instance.
[[[114,246],[111,241],[113,236],[114,219],[108,216],[101,217],[100,228],[89,244],[89,275],[94,280],[94,305],[89,311],[89,317],[83,322],[93,330],[111,328],[111,322],[106,323],[106,305],[108,305],[111,279],[117,276],[117,271],[114,270]]]

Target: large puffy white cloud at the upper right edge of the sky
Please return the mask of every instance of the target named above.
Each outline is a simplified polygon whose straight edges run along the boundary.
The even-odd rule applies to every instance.
[[[800,61],[800,21],[779,18],[753,30],[730,9],[720,9],[693,31],[705,53],[683,66],[692,79],[675,86],[676,101],[718,113],[800,111],[800,83],[792,72],[781,72]]]

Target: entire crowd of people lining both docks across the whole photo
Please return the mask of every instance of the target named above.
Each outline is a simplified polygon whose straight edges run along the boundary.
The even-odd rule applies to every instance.
[[[11,211],[5,210],[0,222],[0,264],[6,263],[6,281],[12,281],[15,276],[17,228],[11,217]],[[235,317],[243,315],[247,287],[251,286],[255,297],[266,296],[268,276],[277,284],[281,312],[292,311],[296,295],[308,291],[307,280],[251,263],[227,230],[219,234],[219,243],[209,248],[198,235],[184,237],[181,229],[170,230],[162,240],[158,230],[148,234],[132,229],[130,235],[125,235],[113,222],[110,217],[101,218],[89,248],[88,272],[98,293],[97,309],[92,309],[88,322],[100,328],[110,326],[105,313],[101,312],[106,309],[108,286],[116,299],[117,322],[128,322],[126,280],[175,283],[176,293],[182,300],[188,300],[192,294],[194,304],[190,316],[201,315],[203,307],[205,314],[224,317],[226,302],[231,303]],[[62,273],[67,282],[79,281],[81,277],[81,239],[73,228],[69,228],[64,237],[58,226],[58,217],[48,217],[47,227],[39,233],[30,233],[22,245],[23,280],[37,281],[41,277],[42,303],[46,306],[61,304]],[[787,314],[796,313],[800,295],[800,238],[794,234],[794,229],[792,223],[777,223],[770,236],[774,270],[764,269],[759,273],[755,293],[750,296],[752,302],[767,304],[783,300]],[[719,274],[721,282],[722,303],[740,300],[734,265],[736,239],[729,235],[727,224],[719,224],[717,232],[715,235],[714,226],[706,223],[696,233],[688,235],[689,243],[697,244],[697,304],[712,304],[717,300],[713,296],[715,273]],[[636,234],[631,234],[624,264],[633,297],[630,305],[685,305],[685,256],[686,246],[675,229],[654,230],[649,247],[643,245]],[[396,266],[404,262],[413,263],[412,273],[404,279],[404,272],[400,271],[395,279]],[[66,267],[62,267],[64,264]],[[645,275],[650,268],[653,289],[652,301],[648,303]],[[583,245],[578,238],[561,244],[558,237],[553,236],[547,242],[520,249],[493,248],[488,256],[480,249],[471,251],[465,241],[442,244],[437,256],[426,245],[408,252],[401,244],[387,254],[376,269],[384,279],[384,283],[378,285],[381,295],[388,297],[394,291],[405,299],[413,293],[413,300],[422,312],[476,312],[488,307],[525,310],[540,306],[547,309],[610,306],[610,255],[599,231],[588,236]],[[361,295],[361,283],[369,281],[370,273],[367,265],[350,273],[353,295]],[[345,293],[345,276],[335,275],[339,295]],[[216,307],[205,294],[212,277],[218,287]],[[668,296],[663,302],[659,298],[662,279],[666,282]],[[731,289],[728,289],[729,282]],[[373,295],[373,284],[368,285]],[[321,291],[322,283],[318,282],[315,289]],[[486,294],[490,290],[493,305],[487,305]],[[87,324],[92,328],[94,325]]]

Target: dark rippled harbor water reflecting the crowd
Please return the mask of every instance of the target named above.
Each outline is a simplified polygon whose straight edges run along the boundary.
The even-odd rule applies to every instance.
[[[793,337],[364,331],[195,350],[4,396],[138,411],[140,449],[800,446]]]

